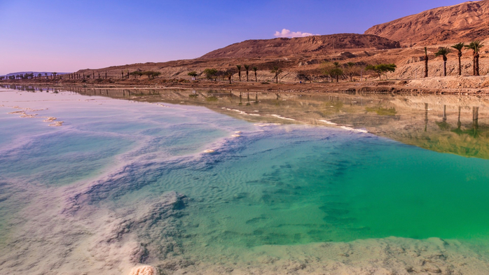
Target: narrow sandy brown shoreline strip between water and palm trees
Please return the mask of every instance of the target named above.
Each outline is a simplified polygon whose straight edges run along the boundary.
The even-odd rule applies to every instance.
[[[411,80],[369,80],[362,82],[313,82],[271,83],[235,82],[214,80],[155,79],[99,79],[99,80],[1,80],[0,85],[49,85],[50,87],[90,88],[156,88],[177,90],[231,90],[242,92],[305,92],[305,93],[351,93],[351,94],[489,94],[489,76],[448,76]]]

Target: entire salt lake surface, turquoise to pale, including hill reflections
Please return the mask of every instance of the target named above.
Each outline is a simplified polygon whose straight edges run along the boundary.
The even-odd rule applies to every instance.
[[[0,271],[485,274],[488,111],[477,97],[4,87]]]

